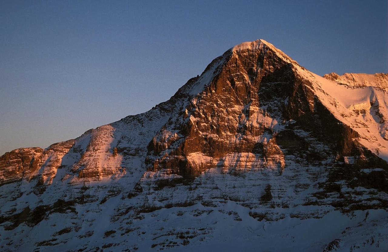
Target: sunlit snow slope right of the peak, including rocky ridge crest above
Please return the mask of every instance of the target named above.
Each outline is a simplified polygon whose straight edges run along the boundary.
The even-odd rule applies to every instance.
[[[388,74],[335,73],[320,77],[298,68],[314,87],[319,100],[342,123],[359,133],[357,141],[388,161]]]

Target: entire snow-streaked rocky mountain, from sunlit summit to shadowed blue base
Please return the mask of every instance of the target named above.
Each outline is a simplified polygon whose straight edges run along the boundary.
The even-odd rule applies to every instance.
[[[386,251],[386,76],[232,47],[143,114],[5,153],[0,249]]]

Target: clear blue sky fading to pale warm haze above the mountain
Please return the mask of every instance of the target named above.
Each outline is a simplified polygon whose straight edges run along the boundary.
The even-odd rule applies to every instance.
[[[145,112],[244,41],[387,72],[387,1],[0,1],[0,155]]]

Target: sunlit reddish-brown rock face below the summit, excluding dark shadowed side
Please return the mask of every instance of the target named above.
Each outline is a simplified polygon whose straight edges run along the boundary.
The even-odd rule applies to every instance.
[[[177,117],[170,118],[149,146],[147,158],[154,159],[153,169],[173,168],[173,173],[196,176],[211,166],[228,167],[228,160],[239,153],[252,154],[251,165],[281,168],[279,147],[265,138],[265,133],[277,126],[279,115],[271,117],[260,108],[259,96],[265,95],[259,93],[259,86],[263,78],[268,83],[268,76],[276,71],[281,71],[277,74],[284,83],[293,75],[290,66],[268,51],[263,42],[253,42],[252,46],[256,50],[246,50],[244,56],[238,49],[225,52],[207,68],[212,79],[207,78],[205,70],[196,80],[193,86],[203,86],[203,90],[194,94]],[[272,100],[277,105],[276,98]],[[264,156],[264,152],[269,155]]]

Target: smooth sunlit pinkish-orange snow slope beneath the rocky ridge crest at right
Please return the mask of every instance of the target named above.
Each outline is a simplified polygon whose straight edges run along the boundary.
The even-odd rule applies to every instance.
[[[315,90],[327,108],[360,134],[359,142],[388,161],[387,85],[352,89],[314,75]],[[384,89],[383,89],[384,88]]]

